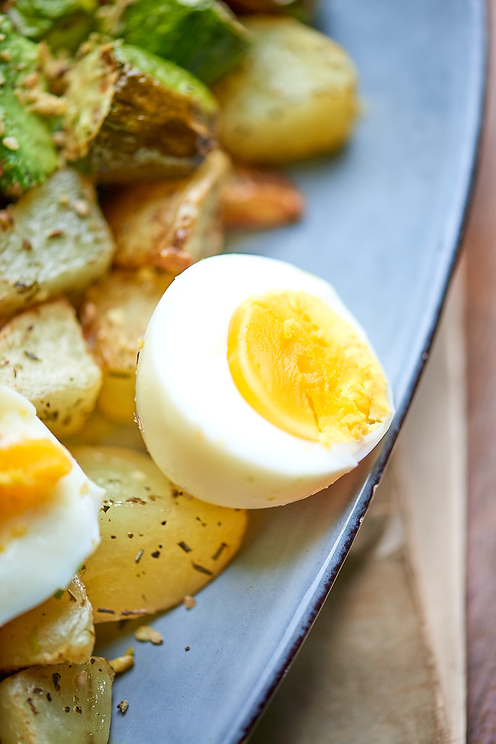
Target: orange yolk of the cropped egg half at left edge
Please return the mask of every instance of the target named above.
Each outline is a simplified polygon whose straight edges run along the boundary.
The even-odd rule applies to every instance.
[[[68,455],[49,439],[0,447],[0,521],[45,504],[57,481],[71,470]]]

